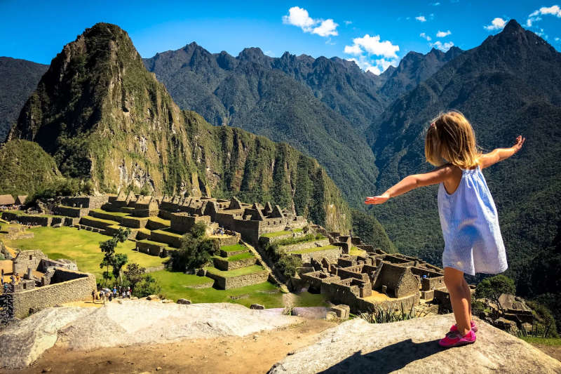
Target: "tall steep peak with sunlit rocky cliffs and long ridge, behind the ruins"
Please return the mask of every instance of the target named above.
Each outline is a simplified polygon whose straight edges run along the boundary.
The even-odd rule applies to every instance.
[[[235,194],[293,207],[330,229],[350,227],[349,207],[316,160],[182,112],[116,25],[98,23],[62,49],[8,138],[37,142],[63,175],[97,190]]]

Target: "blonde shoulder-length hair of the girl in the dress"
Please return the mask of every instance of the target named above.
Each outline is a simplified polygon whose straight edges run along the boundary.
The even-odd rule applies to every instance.
[[[475,133],[464,114],[452,110],[433,119],[426,132],[426,161],[434,166],[449,162],[468,169],[478,165],[480,155],[475,144]]]

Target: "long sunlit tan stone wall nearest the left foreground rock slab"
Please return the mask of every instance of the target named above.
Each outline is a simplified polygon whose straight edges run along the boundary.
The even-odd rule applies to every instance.
[[[66,269],[64,271],[69,272]],[[22,318],[27,316],[29,312],[36,312],[64,302],[91,298],[91,292],[95,290],[95,276],[93,274],[81,274],[81,277],[70,281],[15,293],[13,295],[14,316]]]

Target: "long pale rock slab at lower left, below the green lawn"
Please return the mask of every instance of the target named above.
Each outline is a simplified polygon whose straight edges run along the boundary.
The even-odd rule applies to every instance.
[[[22,368],[55,345],[96,349],[184,339],[243,336],[302,321],[243,305],[122,300],[104,307],[44,309],[0,332],[0,368]]]

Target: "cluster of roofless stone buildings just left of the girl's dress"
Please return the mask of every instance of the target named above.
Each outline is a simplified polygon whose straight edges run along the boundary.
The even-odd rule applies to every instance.
[[[409,312],[420,302],[431,301],[431,310],[436,312],[440,299],[446,298],[444,272],[439,267],[419,258],[386,253],[356,237],[325,234],[332,244],[342,246],[342,255],[334,261],[312,258],[290,279],[292,290],[321,293],[335,305],[349,305],[354,313],[377,306]],[[351,245],[363,249],[366,255],[349,255]]]

